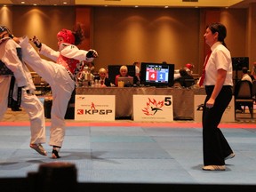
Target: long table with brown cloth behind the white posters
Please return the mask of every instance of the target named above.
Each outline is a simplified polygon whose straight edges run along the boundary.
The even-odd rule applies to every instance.
[[[116,118],[132,116],[132,95],[172,95],[173,119],[194,119],[194,95],[205,94],[204,89],[156,87],[78,87],[76,95],[116,95]]]

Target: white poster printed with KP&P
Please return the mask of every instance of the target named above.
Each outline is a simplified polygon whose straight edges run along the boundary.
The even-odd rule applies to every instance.
[[[115,121],[115,95],[76,95],[75,120]]]

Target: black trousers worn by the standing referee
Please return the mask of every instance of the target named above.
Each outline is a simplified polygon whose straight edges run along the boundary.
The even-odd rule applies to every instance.
[[[224,165],[225,157],[232,153],[228,141],[218,127],[221,117],[232,99],[232,87],[224,85],[217,96],[212,108],[206,108],[206,101],[210,99],[214,85],[205,86],[206,98],[203,109],[203,152],[204,165]]]

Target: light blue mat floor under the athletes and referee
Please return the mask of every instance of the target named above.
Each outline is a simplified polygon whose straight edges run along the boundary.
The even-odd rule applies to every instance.
[[[226,172],[204,172],[202,129],[67,127],[61,158],[29,148],[29,127],[0,126],[0,178],[27,177],[40,164],[76,164],[79,182],[256,184],[256,129],[222,129],[236,156]],[[49,140],[49,127],[47,127]]]

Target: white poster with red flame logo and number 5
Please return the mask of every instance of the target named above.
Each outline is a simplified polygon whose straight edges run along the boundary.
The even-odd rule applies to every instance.
[[[133,95],[133,120],[172,122],[172,95]]]

